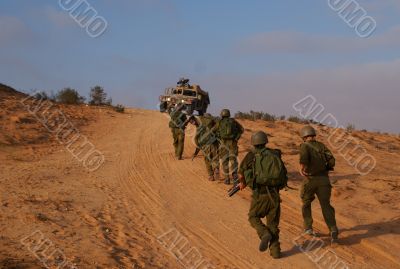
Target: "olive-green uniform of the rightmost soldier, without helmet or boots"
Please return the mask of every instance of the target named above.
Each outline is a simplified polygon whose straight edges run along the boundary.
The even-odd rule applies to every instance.
[[[331,232],[337,232],[335,209],[330,202],[332,185],[326,163],[321,161],[316,149],[325,151],[326,146],[318,141],[306,142],[300,146],[300,164],[305,166],[305,172],[308,175],[300,190],[304,228],[305,230],[312,229],[311,203],[317,195],[326,225]]]

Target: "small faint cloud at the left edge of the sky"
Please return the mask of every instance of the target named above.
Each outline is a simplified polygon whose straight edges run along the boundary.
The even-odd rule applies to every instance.
[[[18,18],[0,16],[0,47],[18,46],[29,43],[33,32]]]

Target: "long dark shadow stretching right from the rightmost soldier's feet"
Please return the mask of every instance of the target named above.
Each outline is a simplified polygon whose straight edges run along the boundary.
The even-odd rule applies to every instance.
[[[343,245],[359,244],[363,239],[378,237],[385,234],[400,234],[400,218],[385,222],[357,225],[342,232],[352,232],[351,235],[340,237]]]

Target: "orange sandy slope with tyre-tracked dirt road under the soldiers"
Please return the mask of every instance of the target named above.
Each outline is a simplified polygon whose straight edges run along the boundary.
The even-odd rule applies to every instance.
[[[315,203],[320,247],[301,251],[296,245],[302,240],[298,191],[283,192],[284,258],[272,260],[258,252],[259,240],[247,221],[250,192],[228,198],[225,185],[207,181],[202,158],[190,160],[193,128],[185,160],[176,161],[164,114],[99,111],[96,119],[80,128],[105,155],[94,172],[60,145],[36,158],[26,158],[24,147],[1,151],[0,268],[40,268],[44,262],[56,268],[50,264],[64,260],[78,268],[400,268],[398,137],[354,134],[378,161],[367,176],[358,175],[336,152],[333,204],[342,233],[335,248]],[[249,148],[251,131],[267,131],[270,146],[283,150],[290,185],[298,188],[301,125],[242,123],[240,157]],[[32,239],[38,235],[59,250],[58,256],[43,258],[44,247]],[[328,254],[318,260],[321,253],[331,262]]]

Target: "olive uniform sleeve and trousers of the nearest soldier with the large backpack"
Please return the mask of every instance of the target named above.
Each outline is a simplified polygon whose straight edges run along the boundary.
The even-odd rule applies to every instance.
[[[261,150],[261,149],[256,149]],[[239,167],[239,174],[246,175],[246,171],[253,169],[254,153],[249,152],[243,159]],[[281,252],[279,243],[279,220],[281,214],[281,199],[279,189],[254,184],[254,179],[245,176],[246,183],[253,189],[250,210],[248,213],[251,226],[257,231],[261,239],[269,233],[272,238],[269,244],[271,256],[279,256]],[[269,193],[268,193],[269,192]],[[267,225],[262,222],[262,218],[267,218]]]

